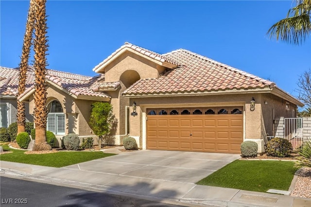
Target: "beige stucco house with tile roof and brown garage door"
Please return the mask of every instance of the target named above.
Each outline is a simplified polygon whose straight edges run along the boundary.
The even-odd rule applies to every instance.
[[[275,119],[303,106],[271,81],[184,49],[158,54],[125,43],[93,70],[93,78],[48,70],[48,123],[58,128],[60,119],[62,134],[93,135],[91,104],[104,101],[118,121],[111,144],[131,136],[142,149],[240,153],[253,140],[262,152]],[[30,113],[33,93],[18,97]]]

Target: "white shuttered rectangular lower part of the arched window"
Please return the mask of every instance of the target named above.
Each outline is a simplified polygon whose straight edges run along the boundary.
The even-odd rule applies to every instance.
[[[65,135],[65,114],[48,113],[47,130],[55,135]]]

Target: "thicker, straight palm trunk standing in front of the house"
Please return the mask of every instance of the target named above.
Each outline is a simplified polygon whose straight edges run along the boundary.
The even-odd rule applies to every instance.
[[[46,37],[46,0],[33,0],[35,2],[35,145],[33,151],[51,150],[47,143],[46,123],[46,52],[48,51],[48,40]]]

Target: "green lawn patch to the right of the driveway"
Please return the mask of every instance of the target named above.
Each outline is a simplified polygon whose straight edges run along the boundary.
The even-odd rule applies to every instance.
[[[258,192],[288,190],[296,170],[291,161],[236,160],[197,184]]]

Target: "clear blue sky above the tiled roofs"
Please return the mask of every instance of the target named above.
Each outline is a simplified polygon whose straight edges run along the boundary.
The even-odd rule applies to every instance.
[[[302,46],[266,32],[293,1],[48,0],[49,69],[94,76],[92,69],[124,42],[166,53],[180,48],[276,82],[295,95],[311,68],[311,38]],[[0,0],[0,65],[21,55],[29,1]]]

